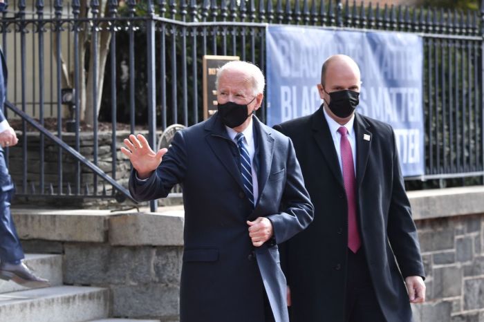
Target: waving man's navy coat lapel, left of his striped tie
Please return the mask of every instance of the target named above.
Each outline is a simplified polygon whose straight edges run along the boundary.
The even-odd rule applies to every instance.
[[[234,180],[239,184],[241,189],[243,189],[243,184],[241,180],[241,171],[236,163],[236,158],[234,158],[234,152],[236,151],[235,143],[230,140],[227,135],[223,124],[218,120],[217,115],[213,115],[209,122],[205,125],[205,131],[209,131],[209,135],[205,137],[210,149],[214,151],[214,154],[223,164],[223,167],[229,171]],[[230,146],[234,145],[234,149]]]

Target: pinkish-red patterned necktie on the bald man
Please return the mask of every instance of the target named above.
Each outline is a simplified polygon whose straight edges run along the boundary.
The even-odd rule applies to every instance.
[[[356,179],[353,153],[351,153],[351,145],[348,140],[348,129],[341,126],[338,132],[341,134],[341,162],[343,166],[344,190],[346,191],[346,201],[348,202],[348,248],[356,254],[362,245],[362,240],[358,232],[356,219]]]

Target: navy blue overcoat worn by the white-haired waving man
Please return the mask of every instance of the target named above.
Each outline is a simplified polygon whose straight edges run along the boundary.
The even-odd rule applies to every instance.
[[[253,120],[259,158],[254,209],[243,190],[239,150],[217,114],[176,133],[147,182],[131,173],[129,189],[136,200],[163,198],[174,184],[183,186],[180,322],[262,322],[264,290],[275,321],[289,321],[275,242],[306,228],[313,205],[292,142]],[[261,216],[271,220],[275,241],[254,249],[246,220]]]

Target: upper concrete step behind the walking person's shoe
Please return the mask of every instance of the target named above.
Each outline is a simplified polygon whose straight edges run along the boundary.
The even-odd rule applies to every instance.
[[[35,275],[47,278],[50,286],[62,285],[62,255],[26,254],[24,263]],[[0,280],[0,294],[28,290],[12,281]]]

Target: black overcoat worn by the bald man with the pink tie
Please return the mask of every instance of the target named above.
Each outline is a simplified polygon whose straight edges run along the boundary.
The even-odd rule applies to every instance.
[[[346,193],[322,108],[274,126],[294,142],[315,206],[313,224],[281,247],[292,322],[344,321]],[[354,129],[357,217],[373,287],[387,321],[408,322],[412,314],[402,275],[424,276],[424,269],[393,129],[357,113]]]

